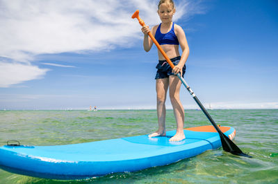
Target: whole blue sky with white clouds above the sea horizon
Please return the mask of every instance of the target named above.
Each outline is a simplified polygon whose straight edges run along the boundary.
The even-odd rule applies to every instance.
[[[157,50],[131,15],[159,24],[157,3],[0,0],[0,109],[155,109]],[[278,2],[175,3],[205,107],[278,109]],[[183,87],[181,101],[197,108]]]

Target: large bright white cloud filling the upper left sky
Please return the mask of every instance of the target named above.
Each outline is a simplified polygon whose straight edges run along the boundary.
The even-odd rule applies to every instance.
[[[32,55],[42,53],[101,50],[127,44],[138,32],[138,23],[125,8],[131,2],[3,1],[0,55],[29,61]]]

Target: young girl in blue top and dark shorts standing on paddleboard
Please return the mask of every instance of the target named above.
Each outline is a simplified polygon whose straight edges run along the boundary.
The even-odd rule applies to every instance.
[[[154,42],[148,37],[148,33],[151,32],[155,35],[158,44],[161,45],[167,56],[174,64],[172,69],[167,64],[165,58],[158,50],[159,63],[156,68],[156,97],[157,97],[157,116],[158,116],[158,130],[153,134],[149,134],[149,137],[165,136],[165,100],[167,90],[169,89],[170,100],[174,110],[174,117],[177,121],[177,133],[170,138],[170,141],[179,141],[186,138],[183,133],[184,122],[184,110],[179,100],[179,91],[181,88],[181,81],[177,77],[177,73],[181,73],[183,76],[186,71],[186,60],[189,55],[189,48],[186,41],[186,35],[183,29],[174,24],[172,17],[175,13],[174,2],[172,0],[161,0],[158,3],[158,15],[161,19],[161,24],[154,26],[151,30],[149,26],[142,27],[142,33],[144,33],[144,49],[148,52]],[[179,45],[181,46],[182,54],[179,54]]]

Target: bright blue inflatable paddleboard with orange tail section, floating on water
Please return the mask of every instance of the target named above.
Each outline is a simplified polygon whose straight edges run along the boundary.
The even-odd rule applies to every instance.
[[[233,127],[220,127],[232,140]],[[147,135],[101,140],[75,145],[0,147],[0,167],[8,172],[39,178],[81,179],[116,172],[135,172],[168,165],[221,147],[213,126],[184,129],[185,140],[170,142],[166,136]]]

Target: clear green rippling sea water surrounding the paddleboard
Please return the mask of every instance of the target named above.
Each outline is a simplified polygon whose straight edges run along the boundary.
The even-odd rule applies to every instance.
[[[278,183],[278,110],[208,110],[215,122],[236,129],[234,142],[253,158],[209,150],[177,163],[134,173],[58,181],[0,169],[0,183]],[[184,127],[211,125],[202,111],[186,110]],[[176,129],[167,110],[167,130]],[[0,145],[66,145],[150,134],[155,110],[0,111]]]

